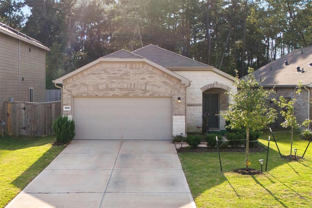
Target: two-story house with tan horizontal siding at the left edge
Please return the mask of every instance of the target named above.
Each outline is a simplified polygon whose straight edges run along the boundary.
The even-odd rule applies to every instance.
[[[0,120],[4,101],[45,102],[49,48],[0,22]]]

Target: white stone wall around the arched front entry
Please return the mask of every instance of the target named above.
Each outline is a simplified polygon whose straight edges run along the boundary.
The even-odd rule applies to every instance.
[[[207,90],[209,84],[217,88],[226,88],[229,91],[236,92],[236,86],[234,81],[213,71],[173,71],[189,80],[192,81],[190,87],[186,88],[187,91],[187,131],[188,132],[201,132],[202,126],[202,92]],[[223,91],[224,92],[224,91]],[[220,100],[220,104],[223,105],[223,101]],[[220,113],[224,111],[221,110]],[[220,129],[225,129],[225,121],[220,117]]]

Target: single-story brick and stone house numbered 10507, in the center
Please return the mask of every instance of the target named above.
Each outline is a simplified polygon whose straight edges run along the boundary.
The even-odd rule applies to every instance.
[[[148,45],[120,50],[53,81],[62,84],[63,115],[76,122],[76,139],[160,139],[225,129],[234,78],[214,67]],[[185,102],[186,101],[186,102]]]

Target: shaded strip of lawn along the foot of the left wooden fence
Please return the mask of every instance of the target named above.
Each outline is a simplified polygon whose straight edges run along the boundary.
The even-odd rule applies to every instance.
[[[4,136],[0,138],[1,150],[19,150],[34,146],[43,146],[55,141],[55,136]]]

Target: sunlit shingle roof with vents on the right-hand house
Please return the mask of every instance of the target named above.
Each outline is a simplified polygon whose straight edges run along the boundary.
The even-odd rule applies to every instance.
[[[287,66],[285,66],[285,61],[288,62]],[[258,81],[260,81],[260,78],[261,80],[265,78],[261,86],[296,86],[300,80],[303,85],[309,85],[312,83],[312,67],[309,67],[310,63],[312,63],[312,46],[293,50],[285,56],[255,70],[253,75]],[[305,72],[297,72],[297,67],[300,67],[300,70],[303,69]]]

